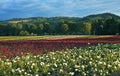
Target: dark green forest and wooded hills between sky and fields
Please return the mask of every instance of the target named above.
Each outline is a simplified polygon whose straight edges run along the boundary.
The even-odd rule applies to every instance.
[[[0,21],[1,36],[119,35],[120,16],[111,13],[79,17],[31,17]]]

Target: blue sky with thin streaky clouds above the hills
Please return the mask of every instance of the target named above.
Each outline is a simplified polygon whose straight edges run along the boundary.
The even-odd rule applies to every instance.
[[[100,13],[120,16],[120,0],[0,0],[0,20]]]

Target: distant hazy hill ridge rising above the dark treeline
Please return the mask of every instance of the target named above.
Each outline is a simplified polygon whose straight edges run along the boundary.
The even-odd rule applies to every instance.
[[[14,18],[14,19],[9,19],[9,20],[4,20],[0,21],[0,23],[19,23],[19,22],[35,22],[36,20],[42,19],[42,21],[94,21],[96,19],[107,19],[107,18],[115,18],[115,19],[120,19],[120,16],[112,14],[112,13],[102,13],[102,14],[92,14],[88,15],[86,17],[64,17],[64,16],[58,16],[58,17],[29,17],[29,18]],[[40,21],[41,22],[41,21]]]

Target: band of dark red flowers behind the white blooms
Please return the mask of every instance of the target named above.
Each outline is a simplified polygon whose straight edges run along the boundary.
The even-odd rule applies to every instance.
[[[20,56],[26,53],[46,53],[48,51],[63,50],[66,48],[97,45],[98,43],[120,43],[120,36],[105,38],[74,38],[58,40],[25,40],[0,42],[0,56]]]

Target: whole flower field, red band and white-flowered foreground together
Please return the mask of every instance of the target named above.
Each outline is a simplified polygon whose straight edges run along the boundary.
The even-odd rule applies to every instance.
[[[0,76],[109,76],[119,70],[119,36],[0,41]]]

